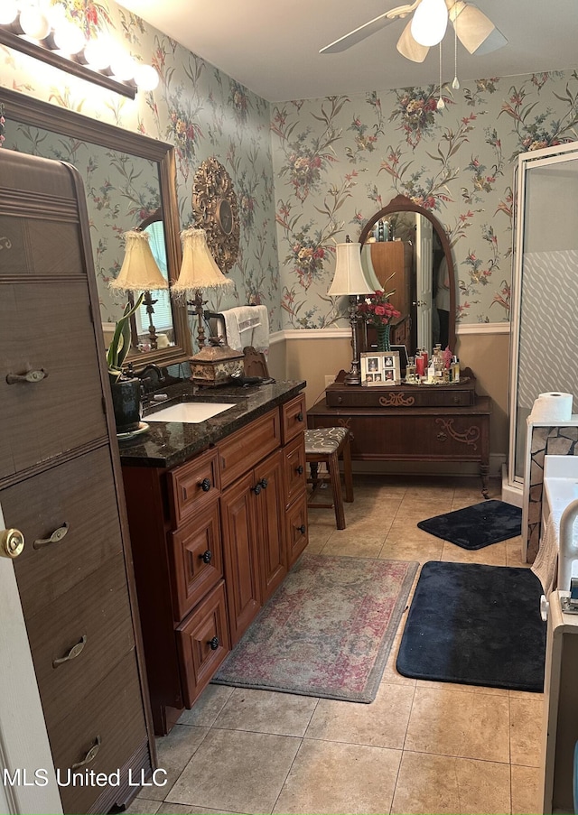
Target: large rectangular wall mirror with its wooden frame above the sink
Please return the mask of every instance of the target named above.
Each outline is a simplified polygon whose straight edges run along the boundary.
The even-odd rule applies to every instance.
[[[0,103],[6,118],[3,149],[69,162],[84,181],[107,346],[109,329],[114,330],[126,304],[126,295],[112,292],[107,284],[122,264],[126,231],[155,224],[156,251],[163,257],[169,285],[178,277],[182,254],[174,148],[6,88],[0,89]],[[166,339],[163,347],[152,348],[147,342],[148,318],[137,315],[127,358],[137,369],[150,363],[169,366],[191,357],[186,305],[167,296],[154,309],[157,332]]]

